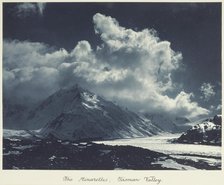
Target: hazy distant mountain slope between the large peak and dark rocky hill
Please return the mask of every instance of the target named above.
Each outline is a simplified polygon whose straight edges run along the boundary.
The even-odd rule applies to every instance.
[[[145,113],[144,115],[151,120],[155,126],[166,132],[184,132],[191,127],[189,126],[191,121],[185,117],[175,117],[160,113]]]

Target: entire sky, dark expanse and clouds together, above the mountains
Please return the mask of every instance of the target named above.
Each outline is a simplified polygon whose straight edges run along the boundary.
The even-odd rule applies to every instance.
[[[221,111],[221,3],[3,3],[3,96],[78,83],[134,111]]]

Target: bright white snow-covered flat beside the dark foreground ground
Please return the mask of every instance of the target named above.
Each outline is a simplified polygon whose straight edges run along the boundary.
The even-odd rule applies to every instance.
[[[149,149],[156,152],[161,152],[168,154],[174,159],[178,160],[187,160],[194,162],[194,164],[206,164],[208,166],[220,166],[221,168],[221,147],[220,146],[208,146],[208,145],[196,145],[196,144],[178,144],[171,143],[170,140],[178,138],[180,134],[164,134],[156,135],[147,138],[131,138],[131,139],[116,139],[109,141],[96,141],[95,143],[103,143],[105,145],[130,145],[135,147],[141,147]],[[177,162],[171,161],[162,161],[165,165],[176,166],[176,169],[197,169],[197,165],[183,165],[178,164]],[[172,163],[172,164],[171,164]],[[175,165],[174,165],[175,163]],[[161,161],[158,162],[161,164]]]

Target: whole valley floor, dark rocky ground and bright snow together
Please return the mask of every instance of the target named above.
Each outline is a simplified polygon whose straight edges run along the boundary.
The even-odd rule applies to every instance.
[[[3,169],[221,169],[220,146],[172,143],[178,136],[72,142],[31,139],[33,132],[5,130]]]

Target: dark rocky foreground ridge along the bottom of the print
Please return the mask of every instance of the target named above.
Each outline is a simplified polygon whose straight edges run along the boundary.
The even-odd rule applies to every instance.
[[[217,170],[191,160],[132,146],[108,146],[92,142],[71,142],[52,139],[4,139],[3,169],[51,170],[174,170],[163,166],[165,161],[189,165],[197,169]],[[183,170],[185,170],[183,168]]]

